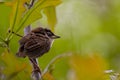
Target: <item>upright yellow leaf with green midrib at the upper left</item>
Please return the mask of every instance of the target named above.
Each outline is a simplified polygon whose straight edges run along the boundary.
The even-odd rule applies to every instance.
[[[23,13],[25,12],[24,3],[28,0],[14,0],[13,2],[7,2],[8,6],[12,7],[12,12],[10,14],[10,29],[13,30],[15,26],[18,26],[18,23],[21,20]]]

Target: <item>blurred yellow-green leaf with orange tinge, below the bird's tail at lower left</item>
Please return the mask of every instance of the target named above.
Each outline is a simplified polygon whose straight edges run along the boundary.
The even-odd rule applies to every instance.
[[[26,72],[27,76],[30,76],[32,70],[31,65],[18,60],[18,58],[16,58],[14,54],[4,52],[0,56],[0,59],[5,64],[5,67],[2,70],[2,72],[6,76],[8,76],[8,79],[17,76],[18,73],[23,73],[23,72],[24,73]]]

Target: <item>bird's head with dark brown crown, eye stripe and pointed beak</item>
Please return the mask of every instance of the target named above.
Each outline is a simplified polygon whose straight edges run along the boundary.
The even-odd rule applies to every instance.
[[[55,35],[50,29],[47,29],[47,28],[39,27],[32,30],[32,32],[42,34],[42,35],[47,35],[51,39],[60,38],[60,36]]]

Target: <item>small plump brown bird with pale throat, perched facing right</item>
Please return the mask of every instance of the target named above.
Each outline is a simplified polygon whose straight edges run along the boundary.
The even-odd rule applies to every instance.
[[[55,35],[48,28],[35,28],[29,31],[25,36],[21,37],[19,40],[20,46],[16,55],[22,58],[28,57],[33,64],[33,72],[37,71],[41,73],[36,59],[47,53],[52,47],[54,39],[57,38],[60,38],[60,36]]]

